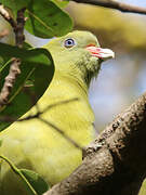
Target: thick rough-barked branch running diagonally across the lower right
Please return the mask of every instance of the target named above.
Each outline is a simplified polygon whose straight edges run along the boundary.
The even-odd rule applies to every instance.
[[[48,195],[137,195],[146,177],[146,93],[96,138],[84,156]]]

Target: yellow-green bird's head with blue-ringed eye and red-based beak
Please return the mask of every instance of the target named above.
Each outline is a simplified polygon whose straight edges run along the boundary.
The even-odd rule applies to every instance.
[[[99,47],[93,34],[81,30],[52,39],[44,48],[53,56],[55,72],[83,80],[88,86],[97,75],[101,62],[115,56],[111,50]]]

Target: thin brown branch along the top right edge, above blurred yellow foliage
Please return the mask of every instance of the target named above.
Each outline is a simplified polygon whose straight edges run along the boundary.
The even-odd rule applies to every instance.
[[[88,3],[93,5],[99,5],[109,9],[116,9],[121,12],[131,12],[138,14],[146,14],[146,8],[134,6],[127,3],[122,3],[116,0],[71,0],[78,3]]]

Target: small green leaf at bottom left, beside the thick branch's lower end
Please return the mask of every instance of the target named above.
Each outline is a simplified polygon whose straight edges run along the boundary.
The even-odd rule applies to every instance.
[[[28,169],[19,169],[19,171],[35,188],[38,195],[41,195],[49,190],[48,183],[37,172]]]

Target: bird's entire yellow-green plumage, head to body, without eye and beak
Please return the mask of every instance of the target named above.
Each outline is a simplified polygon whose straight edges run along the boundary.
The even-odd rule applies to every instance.
[[[65,40],[76,44],[65,47]],[[51,104],[78,99],[56,105],[41,115],[64,131],[80,146],[88,145],[94,138],[94,115],[89,104],[88,90],[91,78],[97,75],[99,60],[85,50],[89,44],[98,47],[95,36],[88,31],[74,31],[51,40],[47,48],[55,63],[54,78],[39,101],[43,110]],[[42,75],[40,75],[42,77]],[[25,116],[36,113],[34,107]],[[38,119],[14,122],[0,133],[3,140],[0,153],[18,168],[38,172],[50,185],[68,177],[82,161],[82,153],[52,127]],[[10,167],[1,160],[0,195],[26,195],[22,182]]]

